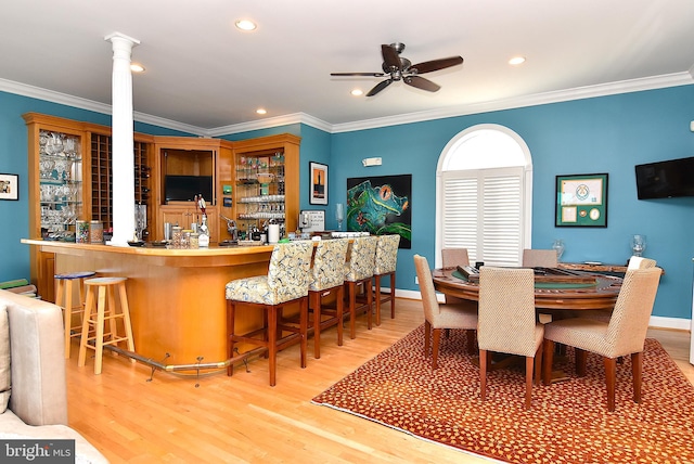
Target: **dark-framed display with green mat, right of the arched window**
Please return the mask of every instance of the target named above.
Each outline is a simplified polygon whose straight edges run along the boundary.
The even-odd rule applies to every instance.
[[[556,177],[556,227],[607,227],[607,175]]]

